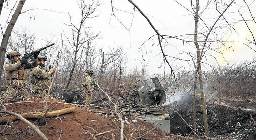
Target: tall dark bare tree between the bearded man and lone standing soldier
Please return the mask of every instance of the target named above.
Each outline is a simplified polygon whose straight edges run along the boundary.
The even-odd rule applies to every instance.
[[[90,4],[87,4],[85,0],[81,0],[80,3],[78,4],[79,9],[80,9],[80,14],[81,14],[81,18],[79,21],[78,25],[75,25],[72,21],[71,15],[69,14],[70,17],[70,23],[69,24],[65,24],[71,27],[72,30],[72,38],[69,39],[65,34],[66,39],[68,40],[69,45],[72,47],[72,56],[73,56],[73,61],[72,61],[72,67],[70,70],[70,76],[69,76],[69,80],[67,81],[67,85],[66,85],[66,89],[69,87],[70,81],[72,79],[74,70],[76,68],[76,63],[77,60],[79,60],[81,58],[81,53],[83,53],[83,44],[91,41],[93,39],[96,39],[97,35],[93,35],[92,33],[90,33],[89,31],[86,31],[84,28],[84,24],[85,21],[88,18],[93,18],[93,17],[97,17],[98,15],[94,15],[97,7],[99,6],[99,2],[97,1],[91,1]],[[84,31],[85,30],[85,31]],[[83,32],[84,31],[84,32]]]

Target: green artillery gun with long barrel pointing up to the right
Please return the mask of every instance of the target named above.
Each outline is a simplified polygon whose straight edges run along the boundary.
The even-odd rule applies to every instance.
[[[164,86],[161,86],[156,77],[151,78],[155,87],[149,86],[147,80],[140,80],[143,86],[136,91],[137,98],[135,99],[140,107],[133,108],[142,114],[139,119],[150,122],[166,133],[170,133],[170,117],[166,113],[167,105],[163,105],[166,101],[165,90],[189,72],[185,72]]]

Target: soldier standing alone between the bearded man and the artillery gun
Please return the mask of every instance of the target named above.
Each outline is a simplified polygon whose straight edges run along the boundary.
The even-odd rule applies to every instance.
[[[87,69],[86,73],[83,75],[83,96],[85,97],[86,103],[85,108],[89,109],[89,105],[92,101],[92,94],[96,86],[95,80],[92,77],[93,69]]]

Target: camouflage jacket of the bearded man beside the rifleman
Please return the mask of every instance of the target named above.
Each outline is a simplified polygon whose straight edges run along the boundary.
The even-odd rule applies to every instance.
[[[52,78],[51,70],[47,70],[42,66],[37,66],[31,71],[32,90],[49,90]]]

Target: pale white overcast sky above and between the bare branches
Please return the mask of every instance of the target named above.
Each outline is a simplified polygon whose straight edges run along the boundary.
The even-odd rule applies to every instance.
[[[15,2],[16,0],[9,0],[7,8],[11,9]],[[112,12],[110,0],[102,0],[100,2],[102,4],[96,11],[96,14],[99,14],[99,16],[88,19],[85,24],[85,26],[91,28],[91,31],[93,31],[95,34],[100,33],[100,36],[102,36],[101,40],[95,41],[96,47],[104,48],[104,50],[107,51],[113,46],[123,46],[124,50],[127,51],[127,66],[129,69],[132,69],[136,65],[146,64],[149,67],[149,73],[163,73],[163,67],[158,69],[158,67],[162,65],[163,57],[158,46],[157,38],[154,37],[142,45],[149,37],[155,34],[153,29],[147,23],[146,19],[143,18],[138,11],[135,11],[135,15],[133,15],[133,6],[127,0],[113,0],[114,7],[122,10],[115,10],[115,15],[120,19],[121,23],[127,29],[129,29],[127,30],[122,24],[119,23],[119,21],[116,20],[116,18],[113,16],[110,18]],[[193,34],[194,18],[191,13],[184,8],[186,7],[192,11],[191,3],[189,0],[183,0],[181,2],[184,7],[177,4],[173,0],[134,0],[134,2],[149,17],[154,26],[156,26],[156,29],[159,30],[161,34],[170,36]],[[226,0],[224,2],[229,4],[230,0]],[[250,5],[250,8],[252,9],[253,14],[256,13],[256,2],[254,0],[248,0],[246,2],[248,2],[248,4],[254,2]],[[207,4],[209,4],[209,6],[204,9],[201,16],[207,19],[205,20],[205,23],[210,27],[210,25],[212,25],[215,21],[214,18],[219,16],[219,13],[215,10],[215,5],[212,1],[200,1],[200,13]],[[244,3],[242,1],[238,1],[236,4],[234,4],[234,6],[231,6],[227,12],[233,12],[239,9],[237,5],[244,5]],[[6,6],[6,3],[4,6]],[[62,23],[69,22],[69,17],[67,15],[68,12],[71,14],[73,21],[79,21],[79,9],[75,0],[26,0],[22,11],[36,8],[49,9],[60,12],[57,13],[47,10],[31,10],[19,16],[14,29],[20,30],[21,27],[25,27],[30,34],[34,34],[37,38],[36,43],[38,47],[44,46],[47,40],[50,39],[51,35],[55,35],[57,40],[60,40],[61,33],[63,32],[65,32],[66,35],[71,35],[70,27]],[[9,21],[11,18],[10,16],[7,20],[7,17],[10,13],[9,9],[2,9],[0,17],[0,23],[2,27],[6,27],[6,21]],[[238,14],[234,13],[227,13],[224,14],[224,16],[227,19],[232,19],[233,21],[235,19],[241,19],[241,17],[238,17]],[[256,15],[254,14],[254,16]],[[32,19],[30,19],[30,17],[32,17]],[[223,18],[220,22],[224,22]],[[201,31],[205,30],[202,22],[199,27],[200,26]],[[250,22],[249,26],[253,29],[254,36],[256,36],[256,24]],[[215,58],[218,60],[218,63],[221,65],[226,64],[225,60],[227,60],[228,63],[241,60],[252,61],[252,58],[255,56],[254,51],[242,44],[246,42],[245,38],[251,39],[250,32],[246,25],[243,22],[238,22],[235,23],[235,28],[238,34],[229,33],[229,36],[224,37],[224,40],[227,39],[228,41],[235,41],[225,43],[227,48],[221,49],[223,50],[223,55],[214,52],[210,53],[215,56]],[[193,38],[193,36],[190,36],[190,38]],[[189,40],[188,38],[186,39]],[[169,39],[167,42],[166,47],[164,48],[167,55],[191,60],[189,55],[185,53],[179,53],[182,53],[182,50],[188,53],[191,52],[193,54],[196,52],[194,46],[190,46],[186,43],[184,44],[182,41]],[[191,43],[191,45],[193,44]],[[249,46],[256,49],[255,45],[250,44]],[[223,56],[225,57],[225,60],[223,59]],[[170,63],[173,67],[186,66],[188,69],[193,68],[192,62],[175,60],[173,58],[168,59],[170,60]],[[212,57],[207,56],[206,59],[203,61],[211,65],[216,65],[216,61]]]

